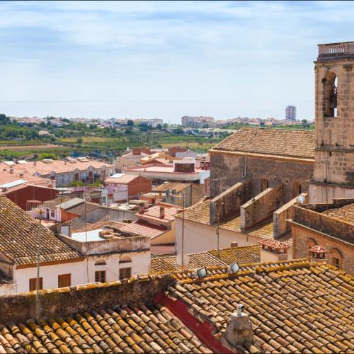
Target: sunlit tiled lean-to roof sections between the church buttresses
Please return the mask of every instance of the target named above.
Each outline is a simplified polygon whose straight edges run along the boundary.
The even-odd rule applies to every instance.
[[[176,215],[176,217],[182,217],[182,213]],[[200,222],[200,224],[210,225],[210,200],[204,200],[198,202],[191,207],[185,209],[185,220],[193,222]],[[241,233],[241,217],[232,217],[223,222],[220,222],[220,229],[227,229],[234,232]],[[250,227],[243,234],[249,234],[250,236],[273,239],[273,217],[258,222],[253,227]]]

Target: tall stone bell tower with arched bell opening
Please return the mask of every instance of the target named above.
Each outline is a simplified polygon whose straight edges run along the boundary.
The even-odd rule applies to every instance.
[[[354,42],[319,45],[316,162],[309,202],[354,198]]]

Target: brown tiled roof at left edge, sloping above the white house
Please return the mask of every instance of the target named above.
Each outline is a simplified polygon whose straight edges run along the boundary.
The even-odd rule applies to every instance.
[[[8,200],[0,196],[0,252],[17,265],[29,265],[37,262],[38,221]],[[41,228],[42,246],[40,262],[67,261],[81,258],[60,241],[45,227]]]

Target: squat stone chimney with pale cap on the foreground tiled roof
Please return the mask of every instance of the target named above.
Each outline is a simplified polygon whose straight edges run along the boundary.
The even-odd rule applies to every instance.
[[[236,312],[230,315],[224,332],[224,339],[226,339],[229,346],[236,348],[237,346],[252,345],[253,331],[252,323],[249,320],[249,315],[242,312],[244,305],[238,304]]]

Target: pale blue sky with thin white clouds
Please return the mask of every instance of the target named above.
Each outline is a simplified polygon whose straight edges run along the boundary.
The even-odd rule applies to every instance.
[[[314,119],[319,43],[350,1],[0,1],[0,113]],[[350,37],[351,33],[351,37]]]

